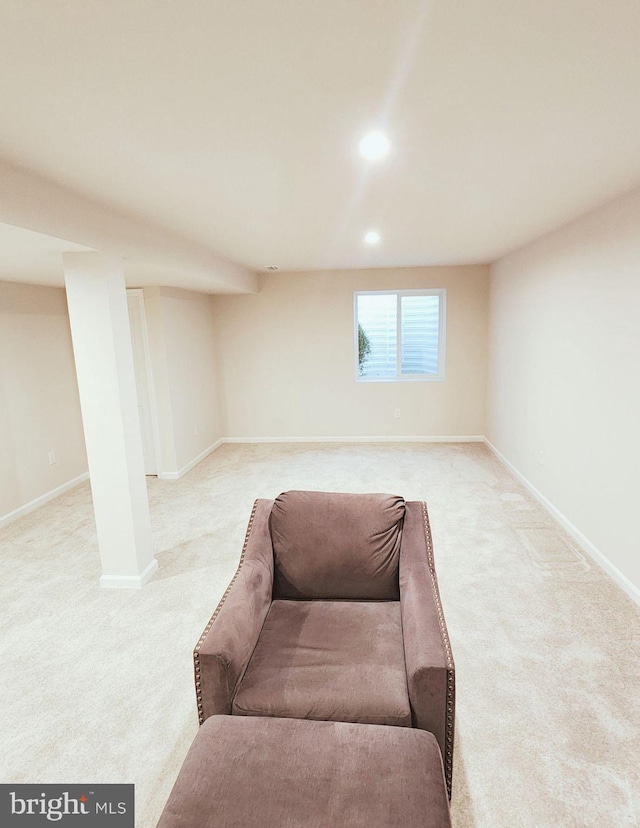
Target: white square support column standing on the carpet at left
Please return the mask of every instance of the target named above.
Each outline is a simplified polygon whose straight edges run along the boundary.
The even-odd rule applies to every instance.
[[[158,568],[122,260],[63,254],[71,337],[102,561],[101,586],[141,587]]]

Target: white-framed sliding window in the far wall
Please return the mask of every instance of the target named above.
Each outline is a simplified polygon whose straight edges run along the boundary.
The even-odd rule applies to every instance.
[[[354,295],[356,379],[444,379],[445,290]]]

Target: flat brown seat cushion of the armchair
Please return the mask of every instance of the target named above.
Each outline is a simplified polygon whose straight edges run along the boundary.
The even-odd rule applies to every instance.
[[[411,727],[400,603],[273,601],[232,713]]]

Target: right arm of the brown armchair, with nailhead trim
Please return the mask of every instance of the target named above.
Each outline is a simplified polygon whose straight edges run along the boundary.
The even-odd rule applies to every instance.
[[[418,501],[406,504],[400,613],[413,725],[436,737],[451,797],[455,665],[440,602],[427,506]]]

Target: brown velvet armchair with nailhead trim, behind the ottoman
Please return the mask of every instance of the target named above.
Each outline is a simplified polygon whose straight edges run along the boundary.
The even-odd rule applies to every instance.
[[[257,500],[194,662],[201,724],[222,713],[429,730],[451,794],[455,673],[424,503]]]

